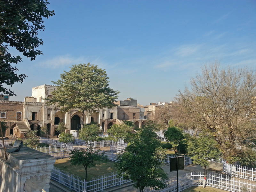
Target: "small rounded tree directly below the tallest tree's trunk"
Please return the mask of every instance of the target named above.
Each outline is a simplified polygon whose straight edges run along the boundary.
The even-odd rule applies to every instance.
[[[100,127],[97,124],[84,124],[84,127],[79,130],[78,138],[86,142],[87,148],[88,141],[95,141],[97,139],[99,131]]]

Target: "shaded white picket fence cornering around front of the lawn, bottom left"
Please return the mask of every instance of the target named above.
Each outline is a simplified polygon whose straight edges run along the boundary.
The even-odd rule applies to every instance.
[[[123,176],[118,177],[117,172],[107,173],[104,175],[93,177],[92,180],[86,181],[78,176],[72,175],[56,167],[53,167],[52,169],[51,179],[58,181],[60,184],[65,185],[68,188],[77,192],[102,191],[103,189],[106,188],[131,182],[131,180],[124,180]]]

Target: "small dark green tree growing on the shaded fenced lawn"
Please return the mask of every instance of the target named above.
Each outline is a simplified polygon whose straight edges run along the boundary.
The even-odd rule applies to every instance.
[[[100,164],[100,161],[105,160],[104,153],[101,153],[100,150],[94,151],[92,147],[87,150],[72,150],[69,155],[72,166],[84,166],[85,180],[87,180],[87,168]]]

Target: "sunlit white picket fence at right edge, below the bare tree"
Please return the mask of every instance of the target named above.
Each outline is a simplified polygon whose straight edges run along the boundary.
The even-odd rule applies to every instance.
[[[222,171],[234,177],[256,181],[256,168],[223,162]]]

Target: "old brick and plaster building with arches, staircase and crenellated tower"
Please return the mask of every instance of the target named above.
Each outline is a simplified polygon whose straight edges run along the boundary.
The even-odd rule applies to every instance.
[[[44,128],[49,137],[57,137],[56,128],[60,123],[65,123],[67,130],[78,131],[81,124],[95,122],[102,131],[107,132],[113,124],[121,124],[123,120],[133,121],[141,127],[145,123],[144,108],[137,106],[137,100],[127,99],[117,101],[114,108],[95,109],[93,113],[84,113],[84,122],[81,121],[82,113],[77,109],[62,113],[60,108],[49,106],[46,98],[52,97],[53,85],[40,85],[32,88],[32,96],[25,97],[24,102],[0,101],[1,121],[7,123],[6,136],[14,134],[23,137],[29,130],[37,131]],[[16,130],[13,131],[13,130]]]

